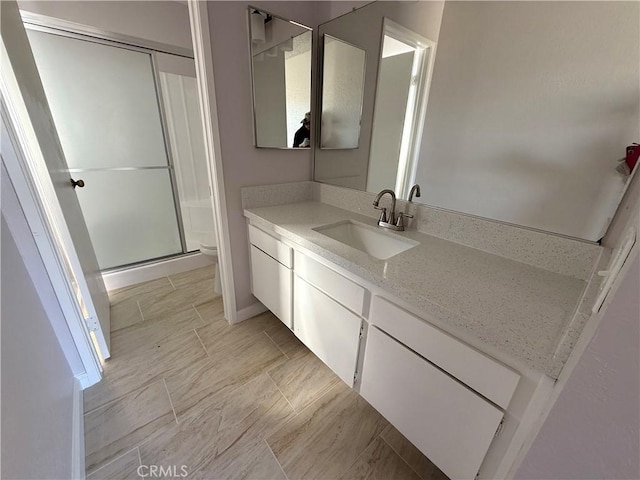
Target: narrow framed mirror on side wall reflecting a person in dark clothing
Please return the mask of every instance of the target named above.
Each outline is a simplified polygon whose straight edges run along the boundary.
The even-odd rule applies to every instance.
[[[255,145],[309,147],[311,29],[255,8],[249,19]]]

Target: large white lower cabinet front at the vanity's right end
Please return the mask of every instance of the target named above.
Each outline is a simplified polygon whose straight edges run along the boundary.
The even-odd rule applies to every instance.
[[[360,394],[455,479],[475,477],[503,416],[375,327],[368,334]]]

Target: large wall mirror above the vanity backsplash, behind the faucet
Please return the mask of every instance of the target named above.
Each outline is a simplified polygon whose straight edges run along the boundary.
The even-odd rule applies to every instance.
[[[419,183],[431,206],[599,240],[630,181],[618,161],[640,131],[640,67],[629,60],[639,14],[637,2],[374,2],[321,25],[366,50],[367,75],[360,148],[318,150],[314,178],[401,198]],[[380,122],[405,105],[376,98],[384,17],[437,42],[403,185],[404,124],[401,134]]]

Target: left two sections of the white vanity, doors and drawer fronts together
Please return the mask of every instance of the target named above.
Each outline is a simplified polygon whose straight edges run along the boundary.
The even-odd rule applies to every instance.
[[[253,225],[248,228],[253,295],[353,386],[364,288],[300,252],[294,261],[291,247]]]

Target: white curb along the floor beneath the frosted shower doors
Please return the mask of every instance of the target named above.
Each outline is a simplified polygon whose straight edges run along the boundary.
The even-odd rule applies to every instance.
[[[102,274],[104,285],[107,290],[128,287],[136,283],[148,282],[156,278],[175,275],[177,273],[193,270],[194,268],[206,267],[215,263],[215,257],[194,253],[181,257],[162,260],[160,262],[140,265],[138,267],[116,270]]]

